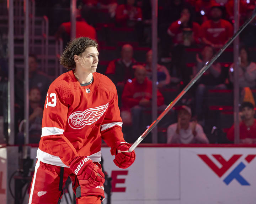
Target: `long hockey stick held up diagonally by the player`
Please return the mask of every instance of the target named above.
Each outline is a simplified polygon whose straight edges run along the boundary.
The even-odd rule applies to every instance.
[[[204,67],[194,76],[194,78],[188,83],[188,85],[180,92],[180,94],[167,106],[167,108],[159,115],[159,117],[149,126],[148,129],[143,132],[142,135],[133,143],[129,148],[129,152],[132,152],[139,143],[149,134],[149,132],[159,123],[159,121],[170,111],[172,107],[181,99],[181,97],[193,86],[194,83],[203,75],[204,72],[217,60],[217,58],[224,52],[224,50],[234,41],[234,39],[242,32],[242,30],[254,19],[256,16],[256,7],[252,13],[252,16],[239,28],[239,30],[229,39],[228,42],[220,49],[212,59],[204,65]]]

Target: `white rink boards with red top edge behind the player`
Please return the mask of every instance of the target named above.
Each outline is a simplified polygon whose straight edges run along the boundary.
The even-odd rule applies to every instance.
[[[32,158],[36,150],[31,149]],[[102,147],[103,165],[112,177],[112,204],[255,204],[256,146],[151,145],[135,152],[134,164],[119,169],[110,148]],[[5,170],[1,163],[0,171]],[[0,183],[6,192],[6,179]]]

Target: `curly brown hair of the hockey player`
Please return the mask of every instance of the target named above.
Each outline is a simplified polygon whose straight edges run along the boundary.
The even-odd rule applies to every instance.
[[[80,55],[88,47],[97,47],[98,43],[91,38],[81,37],[71,40],[60,56],[60,64],[68,70],[75,69],[74,55]]]

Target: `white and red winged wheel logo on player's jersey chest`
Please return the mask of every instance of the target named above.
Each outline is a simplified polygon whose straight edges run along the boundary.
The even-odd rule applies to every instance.
[[[73,129],[84,128],[85,125],[91,125],[95,123],[106,112],[108,103],[96,108],[86,109],[84,112],[76,111],[72,113],[68,118],[68,123]]]

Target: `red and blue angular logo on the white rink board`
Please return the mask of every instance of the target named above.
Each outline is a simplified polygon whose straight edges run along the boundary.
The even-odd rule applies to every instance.
[[[242,156],[242,154],[234,154],[229,160],[225,160],[220,154],[212,154],[212,156],[222,165],[219,168],[206,154],[198,154],[198,156],[219,176],[222,177],[226,171],[228,171],[233,164]],[[245,157],[245,160],[250,163],[256,154],[249,154]],[[229,185],[231,181],[236,179],[242,186],[250,186],[244,177],[240,175],[240,172],[245,168],[245,164],[240,162],[236,168],[230,172],[228,176],[223,180],[226,185]]]

